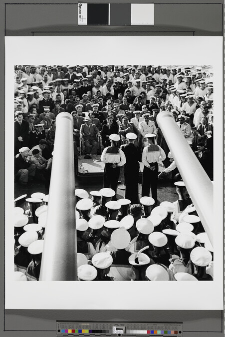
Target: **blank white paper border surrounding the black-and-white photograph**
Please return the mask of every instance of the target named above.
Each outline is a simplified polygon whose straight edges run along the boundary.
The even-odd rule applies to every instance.
[[[214,281],[14,282],[15,64],[212,65],[214,72]],[[5,37],[5,309],[223,310],[223,37]]]

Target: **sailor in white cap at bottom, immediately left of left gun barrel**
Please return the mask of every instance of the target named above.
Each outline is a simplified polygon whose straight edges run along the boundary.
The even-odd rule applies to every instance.
[[[43,245],[44,240],[36,240],[27,248],[27,251],[32,256],[32,260],[30,261],[25,273],[28,281],[39,281]]]

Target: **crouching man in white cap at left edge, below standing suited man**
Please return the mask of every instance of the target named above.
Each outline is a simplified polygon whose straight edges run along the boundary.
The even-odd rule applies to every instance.
[[[28,178],[33,180],[36,171],[36,166],[31,163],[28,152],[28,147],[21,147],[14,157],[14,174],[18,177],[20,185],[26,185]]]

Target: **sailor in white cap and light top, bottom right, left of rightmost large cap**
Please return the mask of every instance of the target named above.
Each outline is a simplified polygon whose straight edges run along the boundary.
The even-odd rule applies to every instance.
[[[184,233],[180,233],[175,237],[175,243],[180,257],[170,259],[170,280],[176,281],[174,277],[176,273],[192,274],[192,264],[190,260],[190,252],[195,247],[195,240]]]

